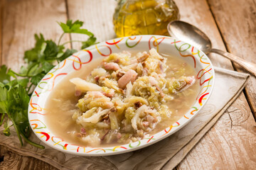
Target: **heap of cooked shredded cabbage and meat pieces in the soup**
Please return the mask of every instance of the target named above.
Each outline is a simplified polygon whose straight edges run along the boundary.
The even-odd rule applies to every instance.
[[[195,77],[184,76],[180,68],[180,77],[167,78],[167,69],[166,58],[152,48],[137,55],[113,53],[92,70],[87,81],[70,79],[84,93],[73,113],[73,120],[86,131],[81,140],[96,144],[137,141],[171,118],[173,110],[167,103],[193,93],[186,89]]]

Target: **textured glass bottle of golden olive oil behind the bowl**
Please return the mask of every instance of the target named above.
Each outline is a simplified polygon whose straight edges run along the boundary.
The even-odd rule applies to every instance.
[[[117,37],[168,35],[167,24],[178,19],[178,7],[172,0],[119,0],[114,31]]]

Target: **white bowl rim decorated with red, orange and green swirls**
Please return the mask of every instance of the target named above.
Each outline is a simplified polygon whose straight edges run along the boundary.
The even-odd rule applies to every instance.
[[[193,105],[189,111],[177,120],[176,123],[143,140],[112,147],[82,147],[73,145],[63,140],[60,136],[55,135],[48,128],[45,109],[48,96],[68,74],[78,72],[82,67],[92,67],[92,61],[103,59],[113,52],[122,52],[123,50],[130,52],[149,51],[153,47],[159,53],[181,58],[196,71],[196,84],[199,86],[198,94],[194,98]],[[213,65],[206,54],[181,40],[159,35],[136,35],[107,40],[106,42],[88,47],[85,50],[75,52],[75,54],[60,62],[48,72],[33,91],[28,106],[28,119],[36,136],[46,145],[58,149],[61,152],[82,156],[103,156],[131,152],[159,142],[189,123],[201,108],[206,105],[206,101],[208,101],[213,90],[214,78]]]

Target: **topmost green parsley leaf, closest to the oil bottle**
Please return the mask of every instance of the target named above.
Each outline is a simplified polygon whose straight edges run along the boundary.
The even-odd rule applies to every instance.
[[[63,29],[64,33],[80,33],[92,36],[93,34],[87,29],[83,29],[82,21],[75,21],[72,23],[72,20],[68,20],[66,23],[58,23],[60,27]]]

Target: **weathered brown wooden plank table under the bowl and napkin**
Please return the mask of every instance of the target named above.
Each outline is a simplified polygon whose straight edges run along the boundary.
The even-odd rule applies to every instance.
[[[0,64],[15,71],[23,64],[23,52],[33,47],[34,33],[57,40],[55,21],[85,21],[98,41],[115,37],[114,0],[1,0]],[[213,47],[227,50],[256,64],[255,0],[176,0],[181,20],[200,27]],[[65,40],[84,40],[80,35]],[[73,43],[73,48],[79,45]],[[245,72],[224,57],[210,54],[216,67]],[[220,94],[221,95],[221,94]],[[253,169],[256,167],[256,79],[251,77],[242,94],[198,142],[176,169]],[[55,169],[46,162],[1,147],[0,169]]]

